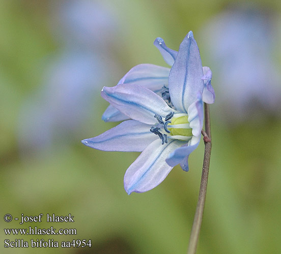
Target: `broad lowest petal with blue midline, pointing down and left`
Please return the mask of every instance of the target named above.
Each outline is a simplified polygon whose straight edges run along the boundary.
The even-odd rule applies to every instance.
[[[165,162],[166,157],[181,145],[178,140],[164,145],[161,145],[160,139],[151,143],[127,169],[124,176],[126,192],[147,192],[161,183],[173,168]]]

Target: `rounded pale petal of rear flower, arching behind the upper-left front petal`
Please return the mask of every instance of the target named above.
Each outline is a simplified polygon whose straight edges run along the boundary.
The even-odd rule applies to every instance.
[[[128,71],[118,84],[141,85],[156,92],[168,84],[170,69],[145,63]]]

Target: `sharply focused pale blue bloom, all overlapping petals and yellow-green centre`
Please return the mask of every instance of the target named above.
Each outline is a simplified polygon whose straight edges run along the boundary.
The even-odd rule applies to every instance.
[[[172,69],[138,65],[118,85],[103,87],[101,96],[110,103],[103,119],[129,120],[82,140],[99,150],[142,151],[124,176],[128,194],[154,188],[178,164],[188,171],[188,156],[201,138],[203,101],[214,102],[212,73],[202,67],[192,31],[179,52],[167,48],[161,38],[154,44]]]

